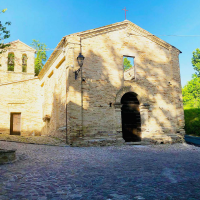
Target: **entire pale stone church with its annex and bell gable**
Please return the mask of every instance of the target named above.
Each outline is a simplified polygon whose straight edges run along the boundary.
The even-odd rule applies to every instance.
[[[125,20],[63,37],[37,77],[35,50],[11,42],[0,55],[0,133],[73,146],[180,142],[179,53]]]

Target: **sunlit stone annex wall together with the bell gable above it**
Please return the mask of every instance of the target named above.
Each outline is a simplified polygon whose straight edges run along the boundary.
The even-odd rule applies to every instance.
[[[8,54],[14,53],[14,71],[8,71]],[[22,72],[22,55],[27,55],[27,72]],[[35,50],[17,40],[1,54],[0,133],[10,134],[11,113],[21,113],[21,135],[41,135],[42,93],[34,77]]]

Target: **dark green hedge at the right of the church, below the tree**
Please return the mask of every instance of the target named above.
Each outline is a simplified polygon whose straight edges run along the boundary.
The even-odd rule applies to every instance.
[[[184,106],[184,114],[186,134],[200,136],[200,109]]]

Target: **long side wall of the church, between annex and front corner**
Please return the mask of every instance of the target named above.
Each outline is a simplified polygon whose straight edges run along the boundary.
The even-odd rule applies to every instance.
[[[40,77],[44,94],[42,135],[66,139],[66,76],[65,53],[59,51],[44,76]]]

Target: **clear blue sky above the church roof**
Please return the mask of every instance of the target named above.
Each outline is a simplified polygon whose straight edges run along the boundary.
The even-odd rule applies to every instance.
[[[200,35],[200,0],[0,0],[2,22],[11,21],[11,37],[31,44],[32,39],[55,48],[65,35],[127,19],[155,35]],[[161,39],[180,49],[181,81],[184,86],[194,73],[192,52],[200,37]],[[51,52],[48,52],[50,55]]]

